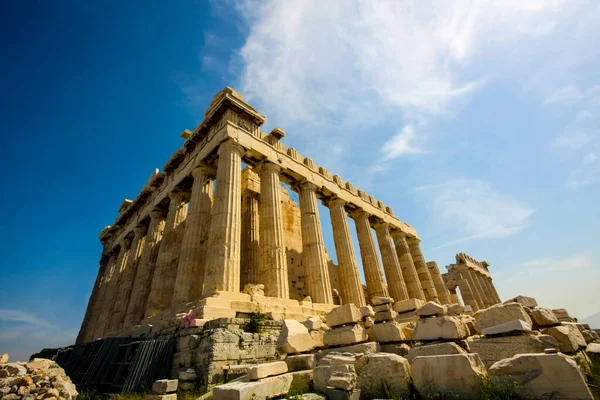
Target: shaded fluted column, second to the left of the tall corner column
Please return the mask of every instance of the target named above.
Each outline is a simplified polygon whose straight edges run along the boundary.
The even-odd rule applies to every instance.
[[[171,300],[173,300],[177,264],[179,264],[183,238],[184,225],[182,224],[187,215],[188,195],[184,192],[172,192],[169,194],[169,199],[169,212],[165,220],[162,243],[156,258],[150,296],[146,306],[146,317],[151,317],[166,310],[171,306]]]

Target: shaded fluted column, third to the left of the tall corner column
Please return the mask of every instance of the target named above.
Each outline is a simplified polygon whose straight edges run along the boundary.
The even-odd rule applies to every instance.
[[[123,323],[124,328],[137,325],[144,318],[164,229],[165,212],[163,210],[151,211],[148,233],[144,240],[144,248],[135,275],[135,284],[127,305],[127,314]]]

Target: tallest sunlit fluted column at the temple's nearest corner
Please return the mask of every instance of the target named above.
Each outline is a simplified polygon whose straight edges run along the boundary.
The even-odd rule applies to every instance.
[[[215,192],[208,253],[204,270],[203,296],[215,291],[240,291],[240,241],[242,201],[242,155],[244,148],[232,139],[218,150]]]

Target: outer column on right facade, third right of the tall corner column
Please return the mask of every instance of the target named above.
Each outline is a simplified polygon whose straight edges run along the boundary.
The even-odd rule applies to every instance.
[[[344,304],[353,303],[357,307],[366,305],[365,293],[360,282],[360,272],[348,226],[348,217],[340,198],[329,200],[329,215],[333,229],[333,242],[338,261],[340,295]]]

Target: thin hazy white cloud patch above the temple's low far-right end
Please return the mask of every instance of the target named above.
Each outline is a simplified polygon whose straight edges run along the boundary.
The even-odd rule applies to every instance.
[[[459,179],[416,188],[432,208],[441,230],[463,236],[436,249],[475,239],[503,238],[525,229],[534,210],[494,191],[489,184]]]

